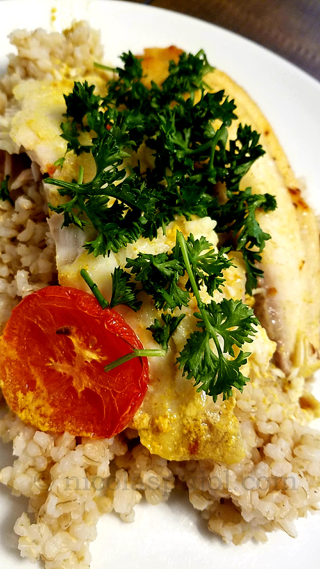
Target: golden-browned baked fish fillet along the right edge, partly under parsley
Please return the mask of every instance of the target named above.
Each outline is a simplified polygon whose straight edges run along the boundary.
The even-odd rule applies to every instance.
[[[150,49],[143,53],[146,85],[151,80],[166,79],[165,60],[176,63],[182,51],[171,46],[166,50]],[[158,61],[160,64],[158,64]],[[276,364],[290,372],[295,351],[305,345],[304,371],[314,369],[314,353],[319,351],[320,319],[320,246],[313,212],[301,196],[299,184],[272,127],[251,97],[224,72],[215,69],[204,78],[212,91],[224,89],[236,104],[237,120],[229,127],[229,137],[236,138],[240,123],[251,125],[260,133],[266,151],[241,180],[240,189],[276,196],[274,212],[257,212],[262,230],[272,239],[262,251],[261,269],[255,312],[271,340],[276,341]],[[308,365],[310,353],[312,365]],[[294,362],[295,363],[295,362]],[[311,362],[309,362],[311,363]],[[315,363],[317,367],[317,362]]]

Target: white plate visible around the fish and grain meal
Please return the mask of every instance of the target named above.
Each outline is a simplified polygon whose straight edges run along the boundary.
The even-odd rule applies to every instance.
[[[52,21],[52,7],[56,20]],[[73,18],[87,19],[101,28],[105,58],[144,47],[176,44],[186,51],[204,48],[210,63],[226,71],[255,99],[272,123],[298,177],[307,187],[309,201],[320,213],[319,133],[320,84],[273,53],[219,27],[169,11],[115,0],[1,0],[0,68],[10,51],[7,34],[14,28],[44,27],[60,31]],[[319,383],[319,382],[318,382]],[[0,465],[12,461],[11,447],[0,447]],[[2,567],[30,567],[20,560],[15,519],[26,508],[21,498],[0,488],[0,556]],[[91,546],[91,569],[307,569],[319,567],[320,515],[297,522],[298,538],[283,532],[269,534],[265,545],[247,543],[236,549],[224,545],[206,529],[183,496],[167,504],[136,506],[136,521],[121,522],[104,516]]]

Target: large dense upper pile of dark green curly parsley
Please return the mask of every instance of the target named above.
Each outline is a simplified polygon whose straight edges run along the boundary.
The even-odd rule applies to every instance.
[[[84,246],[96,256],[116,253],[140,236],[152,240],[177,215],[217,217],[212,184],[224,182],[227,191],[235,192],[264,153],[259,135],[247,125],[239,126],[236,141],[228,147],[227,127],[236,118],[235,104],[223,90],[207,92],[205,76],[212,68],[202,50],[182,53],[178,63],[171,61],[167,79],[150,89],[143,84],[141,60],[131,52],[121,59],[124,68],[113,69],[118,76],[109,80],[104,98],[87,81],[75,82],[64,97],[67,121],[61,136],[67,151],[92,153],[95,178],[86,184],[47,178],[70,198],[67,204],[50,205],[64,215],[63,225],[73,223],[84,230],[90,224],[95,229],[96,237]],[[195,104],[196,92],[200,99]],[[81,143],[81,133],[89,134],[92,142]],[[142,141],[154,154],[154,168],[141,171],[138,166],[126,172],[124,160],[128,162]],[[63,167],[63,159],[58,162]]]

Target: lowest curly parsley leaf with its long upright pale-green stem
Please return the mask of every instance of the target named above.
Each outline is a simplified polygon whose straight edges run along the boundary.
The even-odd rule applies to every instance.
[[[245,341],[252,341],[251,336],[255,334],[253,324],[257,324],[258,320],[253,316],[251,308],[240,300],[223,299],[221,304],[212,300],[210,304],[204,304],[192,271],[192,259],[188,254],[186,240],[179,232],[177,239],[198,303],[199,312],[196,312],[195,316],[199,319],[198,326],[202,328],[202,332],[192,332],[177,358],[177,363],[179,369],[183,370],[183,376],[194,378],[199,390],[211,395],[214,401],[220,393],[223,393],[225,399],[231,396],[232,387],[242,391],[248,381],[240,372],[240,366],[247,362],[249,353],[240,350],[237,357],[234,357],[233,345],[240,348]],[[220,347],[219,337],[223,341],[223,349]],[[226,357],[224,352],[233,359]]]

